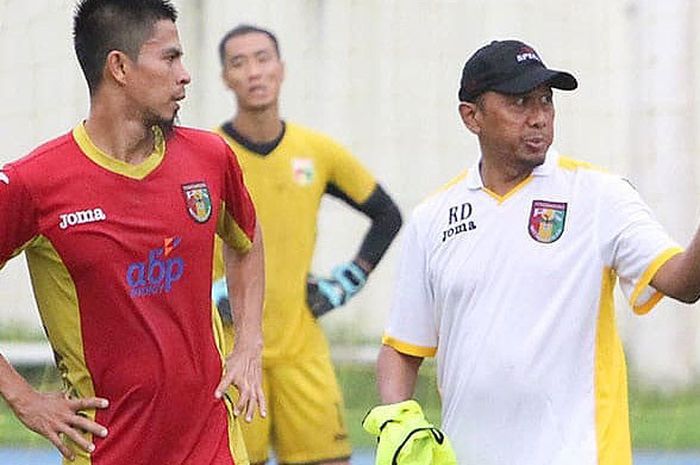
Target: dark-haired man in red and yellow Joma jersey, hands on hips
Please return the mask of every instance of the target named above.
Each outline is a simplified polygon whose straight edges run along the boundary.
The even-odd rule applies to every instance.
[[[262,239],[233,152],[173,125],[190,82],[176,17],[168,0],[79,2],[89,116],[0,169],[0,266],[26,252],[65,382],[37,392],[0,357],[0,395],[80,464],[242,465],[234,415],[265,415]],[[215,234],[237,299],[225,361]]]

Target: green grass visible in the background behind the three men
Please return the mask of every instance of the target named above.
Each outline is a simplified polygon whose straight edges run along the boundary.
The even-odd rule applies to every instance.
[[[53,368],[23,370],[22,374],[42,390],[58,388]],[[364,364],[338,366],[345,395],[346,422],[356,448],[374,447],[375,439],[362,430],[367,411],[379,403],[374,367]],[[700,450],[700,386],[675,394],[634,388],[630,390],[630,422],[635,449]],[[421,368],[416,399],[433,423],[440,422],[440,400],[435,386],[434,362]],[[50,447],[48,441],[27,430],[0,401],[0,445]]]

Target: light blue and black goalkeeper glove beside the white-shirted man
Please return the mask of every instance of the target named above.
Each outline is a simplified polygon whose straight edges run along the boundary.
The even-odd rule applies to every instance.
[[[320,317],[348,300],[367,282],[367,273],[355,262],[336,266],[330,278],[309,275],[306,281],[306,300],[311,313]]]

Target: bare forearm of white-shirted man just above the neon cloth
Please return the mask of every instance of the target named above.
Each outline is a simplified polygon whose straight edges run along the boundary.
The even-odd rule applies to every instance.
[[[413,397],[422,357],[398,352],[382,345],[377,359],[377,388],[383,404],[395,404]]]

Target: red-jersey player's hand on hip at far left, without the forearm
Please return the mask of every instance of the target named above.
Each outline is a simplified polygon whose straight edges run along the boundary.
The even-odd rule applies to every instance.
[[[41,393],[27,390],[10,405],[17,418],[27,428],[51,441],[68,460],[74,460],[75,453],[61,436],[70,439],[87,452],[93,452],[95,445],[85,439],[84,433],[102,438],[107,436],[107,428],[82,414],[85,410],[107,408],[107,399],[71,399],[61,392]]]

